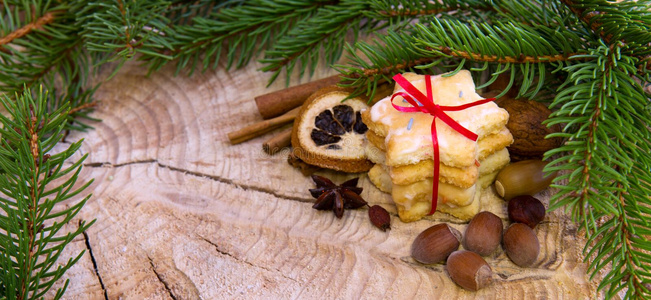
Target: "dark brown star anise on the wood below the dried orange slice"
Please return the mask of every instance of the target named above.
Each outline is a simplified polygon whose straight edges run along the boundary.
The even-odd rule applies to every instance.
[[[357,187],[359,178],[353,178],[341,185],[336,185],[330,179],[319,175],[312,175],[316,183],[315,189],[310,189],[316,202],[312,206],[318,210],[332,209],[337,218],[344,215],[344,209],[356,209],[366,205],[366,201],[359,195],[362,188]]]

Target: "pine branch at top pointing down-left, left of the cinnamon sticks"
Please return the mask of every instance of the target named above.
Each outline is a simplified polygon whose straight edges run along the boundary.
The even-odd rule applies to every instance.
[[[310,18],[327,4],[324,1],[256,0],[223,7],[206,18],[194,18],[191,25],[175,27],[175,50],[170,54],[177,60],[177,73],[183,68],[192,73],[199,61],[202,61],[203,71],[211,65],[216,68],[222,51],[226,52],[227,69],[234,64],[242,67],[259,51],[284,36],[296,22]],[[153,70],[166,63],[151,57],[145,59]]]

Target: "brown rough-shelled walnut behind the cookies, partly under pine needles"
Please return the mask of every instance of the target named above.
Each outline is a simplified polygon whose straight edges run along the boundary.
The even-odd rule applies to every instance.
[[[563,143],[563,139],[559,137],[545,139],[550,133],[560,132],[561,127],[559,124],[551,127],[542,124],[551,114],[551,110],[544,104],[510,97],[502,97],[496,103],[510,115],[506,127],[514,139],[513,144],[508,147],[512,160],[542,158],[547,150],[557,148]]]

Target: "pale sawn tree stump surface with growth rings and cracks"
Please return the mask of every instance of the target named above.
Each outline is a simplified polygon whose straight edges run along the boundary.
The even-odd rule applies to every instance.
[[[253,98],[284,88],[261,65],[226,72],[173,76],[167,68],[146,76],[127,64],[96,94],[101,122],[85,133],[88,153],[80,182],[94,178],[78,219],[96,223],[66,250],[86,253],[67,273],[66,299],[577,299],[591,298],[583,241],[568,217],[554,212],[536,229],[541,254],[522,269],[502,249],[487,258],[496,281],[468,292],[444,265],[410,257],[413,239],[445,214],[402,223],[388,195],[361,175],[362,196],[392,213],[382,232],[365,208],[342,219],[311,208],[314,185],[286,162],[268,156],[269,136],[240,145],[226,134],[260,119]],[[321,68],[323,78],[334,73]],[[305,80],[304,80],[305,81]],[[298,84],[294,77],[292,85]],[[335,174],[341,182],[353,175]],[[549,193],[547,191],[546,193]],[[506,220],[494,191],[482,201]],[[548,194],[542,195],[547,202]],[[506,221],[505,221],[506,222]]]

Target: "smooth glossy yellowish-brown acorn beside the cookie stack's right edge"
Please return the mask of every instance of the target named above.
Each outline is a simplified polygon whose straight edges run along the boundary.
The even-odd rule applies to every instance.
[[[543,168],[547,165],[542,160],[523,160],[512,163],[502,169],[495,179],[495,190],[504,198],[520,195],[533,195],[546,189],[558,172],[545,176]]]

